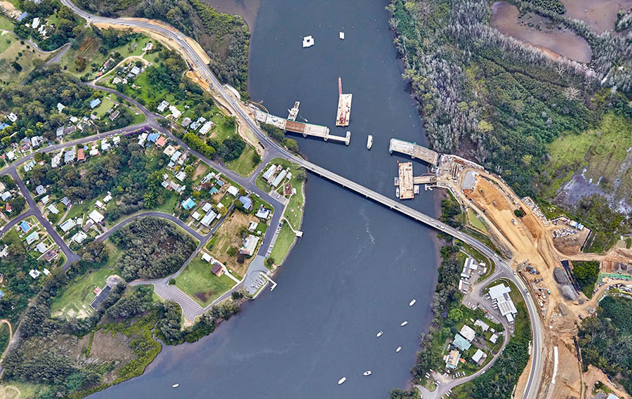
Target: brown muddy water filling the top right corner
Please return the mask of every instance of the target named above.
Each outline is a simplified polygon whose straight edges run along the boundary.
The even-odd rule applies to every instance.
[[[617,12],[632,7],[632,0],[562,0],[566,7],[565,15],[583,20],[597,33],[614,29]]]

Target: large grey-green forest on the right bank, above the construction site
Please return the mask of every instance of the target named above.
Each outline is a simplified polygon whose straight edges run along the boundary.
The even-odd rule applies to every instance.
[[[626,97],[632,95],[632,33],[627,40],[597,35],[567,18],[556,0],[512,2],[585,37],[591,64],[555,61],[499,33],[489,25],[487,1],[392,0],[387,9],[430,146],[472,159],[503,176],[519,195],[546,201],[541,195],[551,180],[569,173],[551,176],[544,168],[548,143],[594,127],[605,112],[632,117]],[[595,230],[612,233],[613,224],[624,230],[627,224],[617,216],[593,217],[601,197],[583,201],[584,209],[570,211],[587,216]],[[597,250],[607,242],[591,241]]]

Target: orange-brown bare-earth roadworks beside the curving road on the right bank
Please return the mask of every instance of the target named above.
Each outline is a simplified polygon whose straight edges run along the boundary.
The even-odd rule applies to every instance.
[[[527,282],[530,293],[541,310],[541,318],[544,322],[545,365],[540,397],[562,399],[575,396],[580,398],[582,381],[593,381],[594,384],[599,380],[608,383],[609,381],[602,377],[588,378],[588,373],[586,376],[581,375],[572,337],[577,334],[577,326],[581,321],[579,315],[586,316],[595,309],[598,298],[610,284],[601,287],[591,301],[586,301],[585,298],[581,304],[580,301],[568,301],[562,296],[560,285],[553,279],[553,269],[560,267],[560,261],[563,259],[632,263],[631,251],[612,249],[607,254],[585,254],[579,251],[577,245],[558,244],[558,247],[564,249],[565,253],[562,253],[556,247],[551,234],[552,230],[559,229],[560,226],[544,221],[497,176],[477,169],[475,171],[478,176],[473,189],[461,190],[462,179],[468,170],[474,169],[463,169],[456,184],[451,183],[453,192],[462,193],[459,196],[459,202],[466,209],[475,211],[489,225],[490,234],[494,235],[503,247],[511,251],[513,255],[511,266],[514,269],[528,259],[528,263],[531,263],[540,273],[531,274],[524,270],[518,272]],[[515,216],[516,209],[525,211],[525,216],[522,218]],[[551,294],[548,294],[547,290],[550,290]],[[560,303],[565,314],[560,311],[558,306]],[[559,362],[555,385],[551,385],[554,346],[558,346]],[[590,376],[594,375],[596,375],[595,372],[591,372]],[[518,381],[515,397],[521,395],[527,377],[528,368]],[[588,390],[591,389],[592,386],[588,386]]]

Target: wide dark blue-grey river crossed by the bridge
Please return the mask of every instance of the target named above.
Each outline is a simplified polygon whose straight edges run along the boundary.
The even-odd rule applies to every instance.
[[[407,159],[389,155],[388,140],[426,139],[401,78],[386,4],[262,0],[249,88],[277,115],[287,116],[300,100],[298,120],[342,136],[347,129],[334,127],[341,76],[343,92],[353,93],[351,144],[296,136],[301,151],[394,196],[396,161]],[[315,46],[303,49],[308,34]],[[369,133],[375,140],[367,151]],[[419,175],[426,166],[415,162],[414,171]],[[142,377],[91,398],[383,399],[390,388],[406,387],[419,333],[430,322],[435,233],[317,176],[308,175],[305,190],[305,235],[273,277],[274,292],[247,303],[194,344],[165,346]],[[435,193],[422,191],[406,204],[437,214]],[[412,299],[416,305],[409,307]],[[400,327],[404,320],[409,324]],[[380,330],[384,334],[376,338]],[[367,369],[373,374],[363,377]],[[347,381],[338,386],[341,377]]]

